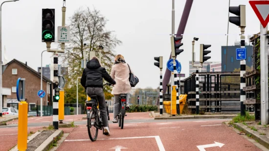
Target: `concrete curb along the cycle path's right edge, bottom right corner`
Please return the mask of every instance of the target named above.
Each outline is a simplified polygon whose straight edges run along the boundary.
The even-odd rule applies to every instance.
[[[246,134],[251,134],[252,139],[257,140],[258,143],[263,145],[265,148],[269,149],[269,138],[264,135],[260,135],[259,132],[249,129],[246,125],[242,123],[234,123],[236,128],[243,130]]]

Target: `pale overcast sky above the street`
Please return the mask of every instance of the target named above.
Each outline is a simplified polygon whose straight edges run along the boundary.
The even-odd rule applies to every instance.
[[[3,1],[3,0],[1,0]],[[66,18],[79,7],[95,7],[109,22],[107,29],[114,30],[123,43],[116,47],[139,78],[137,87],[159,85],[159,69],[154,57],[163,56],[164,69],[171,53],[172,0],[66,0]],[[230,6],[246,5],[246,34],[260,31],[260,22],[249,0],[230,0]],[[175,0],[175,32],[178,30],[186,0]],[[199,46],[211,44],[211,59],[221,61],[221,46],[226,45],[229,0],[194,0],[181,41],[184,49],[177,59],[182,65],[181,73],[189,74],[192,40],[195,43],[196,61],[199,61]],[[62,24],[62,0],[19,0],[2,5],[2,50],[6,47],[8,61],[17,59],[37,70],[41,65],[41,52],[46,49],[41,42],[42,8],[55,8],[56,27]],[[235,16],[230,14],[230,16]],[[57,33],[57,28],[55,29]],[[228,45],[240,41],[240,28],[229,23]],[[57,35],[56,35],[57,37]],[[246,42],[247,36],[246,36]],[[52,47],[56,48],[56,44]],[[50,64],[51,53],[43,53],[43,66]],[[19,72],[19,70],[18,70]],[[164,74],[164,73],[163,73]],[[22,77],[27,78],[27,77]]]

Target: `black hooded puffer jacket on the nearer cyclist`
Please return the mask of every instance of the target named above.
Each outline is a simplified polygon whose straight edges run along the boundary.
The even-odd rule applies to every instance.
[[[107,70],[100,65],[98,60],[92,59],[86,66],[80,80],[83,87],[103,87],[103,78],[112,85],[116,84]]]

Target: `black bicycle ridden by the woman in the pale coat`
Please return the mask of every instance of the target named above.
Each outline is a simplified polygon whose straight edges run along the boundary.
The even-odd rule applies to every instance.
[[[126,113],[126,93],[121,93],[119,96],[119,114],[117,115],[117,123],[121,129],[123,129],[124,116],[127,116]]]

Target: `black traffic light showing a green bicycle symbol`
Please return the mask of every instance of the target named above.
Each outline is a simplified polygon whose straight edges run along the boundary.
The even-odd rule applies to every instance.
[[[42,42],[55,41],[55,9],[42,9]]]

